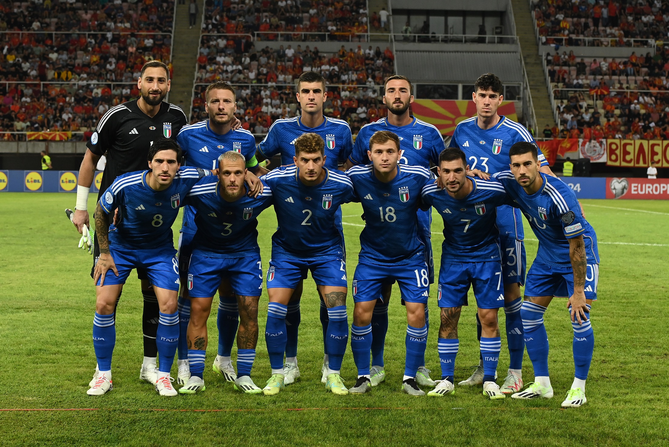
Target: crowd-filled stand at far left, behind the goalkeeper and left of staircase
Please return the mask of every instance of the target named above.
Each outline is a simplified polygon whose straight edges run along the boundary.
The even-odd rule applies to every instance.
[[[2,4],[3,140],[47,130],[81,140],[108,108],[138,95],[146,61],[171,60],[173,2],[48,5]]]

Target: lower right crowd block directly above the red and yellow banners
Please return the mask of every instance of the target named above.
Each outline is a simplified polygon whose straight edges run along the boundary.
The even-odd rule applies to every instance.
[[[669,139],[668,71],[669,48],[610,61],[548,55],[560,123],[551,133],[559,138]]]

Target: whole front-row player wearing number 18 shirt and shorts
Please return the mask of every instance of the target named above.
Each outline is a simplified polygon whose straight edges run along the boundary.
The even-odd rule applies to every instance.
[[[429,277],[416,213],[421,206],[421,190],[434,180],[422,166],[398,164],[399,137],[389,130],[379,130],[371,136],[367,156],[371,164],[347,171],[365,212],[365,229],[360,234],[360,255],[353,277],[351,351],[358,380],[349,391],[363,394],[371,390],[371,319],[382,287],[397,281],[408,323],[402,391],[424,396],[415,378],[418,367],[425,364]]]

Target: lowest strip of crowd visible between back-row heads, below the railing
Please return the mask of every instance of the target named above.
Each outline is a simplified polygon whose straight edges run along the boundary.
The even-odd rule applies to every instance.
[[[191,123],[209,118],[205,112],[207,86],[195,86]],[[237,85],[237,118],[242,126],[254,134],[266,134],[279,118],[292,118],[300,114],[300,104],[295,96],[296,86]],[[328,97],[323,106],[326,116],[349,122],[353,134],[362,126],[383,118],[387,114],[383,105],[383,87],[328,86]]]

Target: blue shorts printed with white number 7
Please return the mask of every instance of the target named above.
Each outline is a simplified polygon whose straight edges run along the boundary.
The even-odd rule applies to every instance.
[[[497,261],[483,263],[443,263],[439,271],[437,302],[439,307],[469,305],[467,293],[474,287],[476,306],[480,309],[504,307],[502,265]]]

